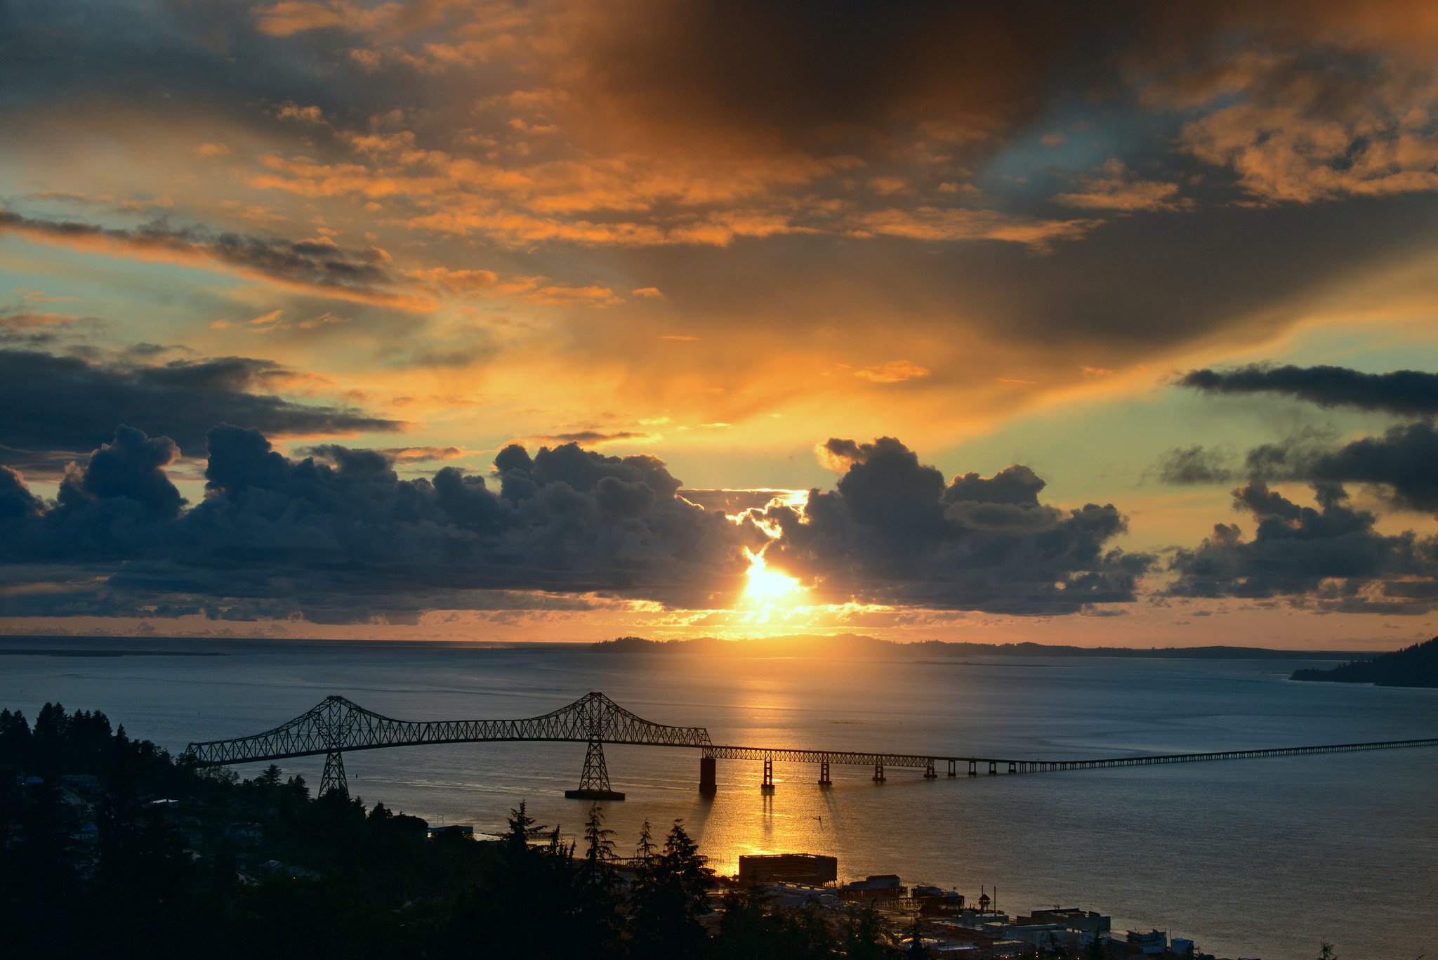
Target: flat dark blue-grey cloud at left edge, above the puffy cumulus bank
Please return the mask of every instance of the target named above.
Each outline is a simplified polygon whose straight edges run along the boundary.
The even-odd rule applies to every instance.
[[[267,393],[293,377],[279,364],[249,357],[137,366],[0,350],[0,462],[55,469],[106,442],[116,422],[162,433],[191,456],[204,450],[206,433],[220,422],[278,436],[406,426],[351,407],[305,406]]]

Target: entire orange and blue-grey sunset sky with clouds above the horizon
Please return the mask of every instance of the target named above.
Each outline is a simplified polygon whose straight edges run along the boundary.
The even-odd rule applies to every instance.
[[[1438,633],[1438,10],[0,4],[0,632]]]

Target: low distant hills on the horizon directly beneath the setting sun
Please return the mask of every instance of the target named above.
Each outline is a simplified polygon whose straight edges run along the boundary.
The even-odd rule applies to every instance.
[[[919,643],[894,643],[861,633],[838,633],[821,636],[801,633],[792,636],[765,636],[749,640],[722,640],[716,636],[700,636],[692,640],[650,640],[643,636],[621,636],[591,645],[592,649],[611,653],[699,653],[731,656],[913,656],[913,658],[961,658],[961,656],[1125,656],[1165,659],[1284,659],[1284,661],[1336,661],[1356,656],[1342,651],[1271,651],[1261,646],[1048,646],[1044,643],[946,643],[923,640]]]

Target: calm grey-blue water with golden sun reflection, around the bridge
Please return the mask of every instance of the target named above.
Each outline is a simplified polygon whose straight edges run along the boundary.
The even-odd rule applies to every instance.
[[[68,649],[96,642],[45,640]],[[37,646],[0,640],[0,649]],[[1004,659],[968,664],[702,659],[577,648],[207,642],[224,656],[0,656],[0,702],[99,708],[171,750],[259,733],[328,694],[406,720],[548,712],[603,689],[656,723],[718,743],[1080,759],[1438,735],[1438,691],[1294,684],[1276,661]],[[1008,913],[1061,904],[1156,925],[1219,956],[1306,959],[1319,938],[1353,959],[1438,954],[1438,748],[1001,777],[720,761],[697,796],[697,754],[608,747],[628,793],[605,810],[624,845],[644,818],[683,818],[722,872],[748,852],[838,856],[840,875],[897,872]],[[578,828],[565,800],[582,744],[457,744],[345,756],[352,793],[431,822],[499,830],[521,799]],[[319,780],[318,760],[288,771]],[[253,774],[257,767],[240,767]],[[942,770],[940,770],[942,773]]]

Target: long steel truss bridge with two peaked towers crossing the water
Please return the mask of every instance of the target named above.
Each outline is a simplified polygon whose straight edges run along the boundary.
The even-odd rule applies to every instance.
[[[1204,760],[1244,760],[1252,757],[1288,757],[1311,753],[1349,753],[1356,750],[1392,750],[1396,747],[1438,747],[1438,737],[1424,740],[1383,740],[1317,747],[1273,747],[1267,750],[1217,750],[1209,753],[1172,753],[1099,760],[1008,760],[998,757],[952,757],[923,753],[876,753],[869,750],[800,750],[791,747],[736,747],[716,744],[703,727],[656,724],[624,710],[598,691],[585,694],[568,707],[528,720],[394,720],[365,710],[344,697],[326,697],[316,707],[273,730],[236,737],[191,743],[184,759],[200,767],[232,763],[260,763],[289,757],[325,757],[319,794],[338,790],[348,796],[344,754],[380,747],[413,747],[440,743],[567,741],[587,744],[584,770],[577,790],[567,797],[585,800],[623,800],[610,789],[604,744],[643,747],[684,747],[699,750],[699,792],[718,792],[718,760],[758,760],[764,763],[761,789],[774,790],[775,763],[812,763],[818,766],[818,784],[830,786],[830,766],[873,767],[873,782],[884,782],[889,767],[923,770],[936,779],[940,764],[945,774],[997,776],[1004,773],[1050,773],[1058,770],[1096,770],[1103,767],[1146,767],[1160,763],[1198,763]]]

